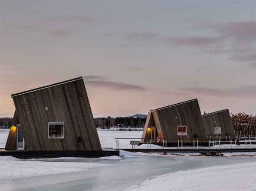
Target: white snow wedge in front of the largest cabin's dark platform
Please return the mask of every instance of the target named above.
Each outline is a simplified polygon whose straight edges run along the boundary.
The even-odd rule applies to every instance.
[[[74,160],[72,157],[69,158]],[[58,162],[59,159],[63,160],[63,158],[21,160],[12,156],[0,156],[0,180],[81,172],[98,167],[112,166],[111,164],[88,161]],[[67,161],[67,158],[65,160]]]

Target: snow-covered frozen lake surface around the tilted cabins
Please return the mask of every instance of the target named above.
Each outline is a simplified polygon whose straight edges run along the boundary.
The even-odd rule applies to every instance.
[[[98,131],[102,147],[115,147],[116,137],[140,138],[141,134]],[[7,136],[0,131],[0,147]],[[256,189],[255,156],[164,156],[121,151],[121,157],[100,159],[0,159],[3,191]]]

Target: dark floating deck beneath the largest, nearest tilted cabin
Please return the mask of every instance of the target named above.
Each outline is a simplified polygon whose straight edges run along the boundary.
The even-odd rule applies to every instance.
[[[32,158],[55,158],[55,157],[103,157],[119,156],[119,150],[92,150],[92,151],[27,151],[27,150],[4,150],[0,149],[0,156],[13,156],[19,159]]]

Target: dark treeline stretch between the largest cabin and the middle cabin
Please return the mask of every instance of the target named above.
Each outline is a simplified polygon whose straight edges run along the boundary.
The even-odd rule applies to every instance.
[[[144,127],[146,118],[134,117],[107,117],[107,118],[94,118],[97,127]]]

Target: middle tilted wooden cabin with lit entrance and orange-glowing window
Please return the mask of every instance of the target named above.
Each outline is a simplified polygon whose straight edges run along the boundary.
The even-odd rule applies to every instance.
[[[167,142],[181,139],[192,142],[193,139],[207,138],[208,133],[198,101],[192,99],[149,111],[141,141],[151,139],[154,142],[159,136]]]

